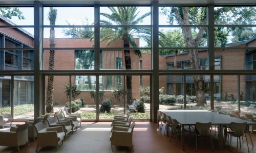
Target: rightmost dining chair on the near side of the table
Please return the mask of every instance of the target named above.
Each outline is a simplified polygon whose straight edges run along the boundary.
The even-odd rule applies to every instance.
[[[238,147],[238,138],[239,138],[240,147],[241,147],[241,139],[240,138],[245,137],[248,152],[249,152],[249,146],[248,146],[245,130],[246,130],[246,122],[243,122],[243,123],[231,122],[230,123],[230,131],[228,132],[228,134],[230,135],[230,151],[232,149],[232,146],[231,146],[232,137],[237,137],[237,147]]]

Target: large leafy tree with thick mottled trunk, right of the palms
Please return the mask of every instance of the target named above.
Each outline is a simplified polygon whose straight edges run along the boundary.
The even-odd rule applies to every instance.
[[[180,25],[200,25],[207,24],[206,18],[206,8],[204,7],[170,7],[163,8],[162,13],[168,16],[168,23],[170,24],[180,24]],[[254,7],[219,7],[215,8],[215,23],[216,24],[245,24],[252,23],[255,21],[255,8]],[[230,19],[231,18],[231,19]],[[202,39],[206,37],[205,27],[181,27],[182,36],[186,47],[199,47],[202,43]],[[231,31],[223,30],[224,28],[216,28],[215,43],[219,43],[224,46],[227,43],[228,32],[235,36],[236,32],[245,34],[244,30],[240,29]],[[196,35],[193,37],[193,33]],[[248,32],[247,32],[248,33]],[[236,35],[239,36],[239,35]],[[245,37],[244,37],[245,38]],[[242,39],[240,39],[241,41]],[[201,69],[200,59],[197,49],[188,49],[188,56],[191,64],[191,69]],[[201,75],[194,75],[194,85],[196,91],[196,102],[198,106],[203,106],[206,104],[204,80]]]

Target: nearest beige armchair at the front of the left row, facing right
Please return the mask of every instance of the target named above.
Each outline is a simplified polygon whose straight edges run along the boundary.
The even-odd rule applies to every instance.
[[[35,124],[35,128],[37,131],[36,151],[39,151],[39,147],[44,146],[56,146],[56,150],[58,150],[59,143],[61,142],[63,145],[65,132],[62,126],[45,127],[44,123],[39,122]]]

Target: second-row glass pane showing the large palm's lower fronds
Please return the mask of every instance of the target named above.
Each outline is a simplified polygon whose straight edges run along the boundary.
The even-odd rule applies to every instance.
[[[150,47],[151,28],[101,28],[100,40],[100,47]]]

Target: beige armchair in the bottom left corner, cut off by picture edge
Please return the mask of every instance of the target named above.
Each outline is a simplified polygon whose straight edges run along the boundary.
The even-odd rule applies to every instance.
[[[19,146],[28,143],[28,123],[11,127],[10,132],[0,131],[0,145],[16,146],[19,151]]]

